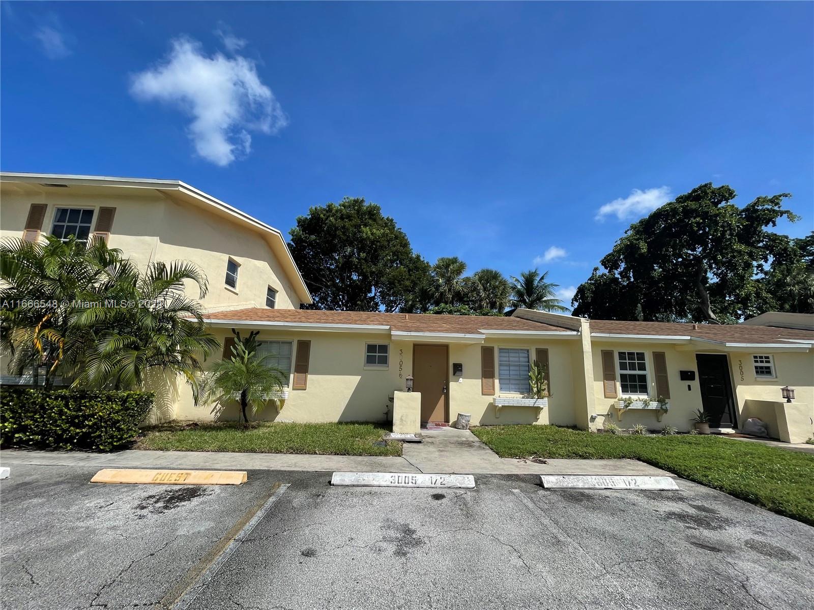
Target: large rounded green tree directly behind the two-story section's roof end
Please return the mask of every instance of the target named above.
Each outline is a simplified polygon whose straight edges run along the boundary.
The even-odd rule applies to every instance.
[[[430,266],[375,203],[344,198],[311,207],[291,229],[291,255],[313,296],[313,308],[396,312],[416,309]]]

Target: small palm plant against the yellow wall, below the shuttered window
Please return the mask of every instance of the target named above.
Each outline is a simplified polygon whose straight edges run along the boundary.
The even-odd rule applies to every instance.
[[[195,404],[237,400],[243,421],[248,423],[247,408],[252,407],[253,412],[260,412],[274,400],[285,384],[285,373],[268,364],[269,356],[257,354],[257,331],[252,331],[243,339],[240,333],[232,332],[236,337],[231,348],[232,355],[199,375]]]

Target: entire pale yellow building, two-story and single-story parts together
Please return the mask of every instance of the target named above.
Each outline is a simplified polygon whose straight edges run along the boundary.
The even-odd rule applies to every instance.
[[[260,351],[287,373],[276,407],[261,417],[388,420],[412,381],[424,422],[465,412],[475,425],[688,430],[703,409],[716,428],[759,417],[775,438],[814,437],[814,316],[698,325],[524,309],[505,317],[302,310],[310,295],[282,234],[182,182],[8,173],[0,181],[3,237],[97,233],[140,264],[188,259],[204,268],[208,323],[225,353],[232,329],[257,330]],[[543,399],[530,395],[534,360],[545,364]],[[237,416],[236,405],[196,407],[177,379],[154,387],[153,421]]]

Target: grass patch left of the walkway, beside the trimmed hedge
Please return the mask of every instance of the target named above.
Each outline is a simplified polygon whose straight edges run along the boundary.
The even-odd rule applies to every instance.
[[[376,424],[277,424],[253,422],[161,425],[144,430],[137,449],[247,451],[318,455],[401,455],[400,442],[382,441],[390,430]]]

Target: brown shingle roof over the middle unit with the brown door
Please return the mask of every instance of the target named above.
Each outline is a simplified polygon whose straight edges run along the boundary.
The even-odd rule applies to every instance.
[[[289,322],[292,324],[352,324],[389,326],[392,330],[418,333],[479,333],[481,330],[536,330],[562,332],[559,326],[502,316],[435,316],[422,313],[328,312],[316,309],[232,309],[212,312],[211,320]]]

